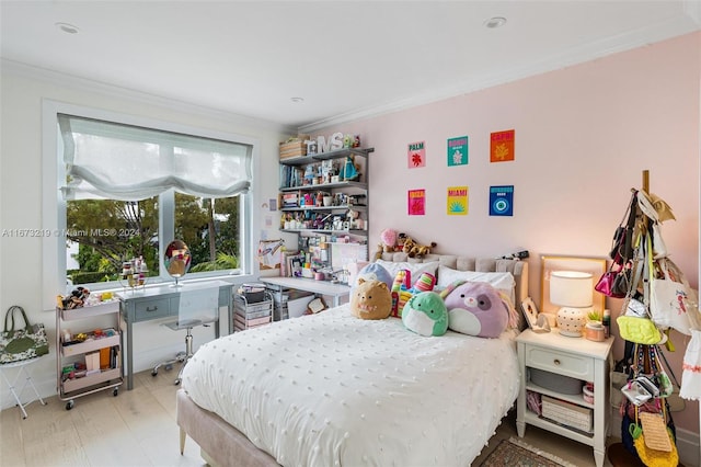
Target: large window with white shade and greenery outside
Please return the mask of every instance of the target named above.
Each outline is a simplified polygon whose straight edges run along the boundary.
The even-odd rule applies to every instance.
[[[250,271],[252,141],[126,118],[54,118],[66,282],[118,286],[123,263],[133,259],[147,264],[147,283],[172,281],[162,258],[173,239],[191,250],[188,277]]]

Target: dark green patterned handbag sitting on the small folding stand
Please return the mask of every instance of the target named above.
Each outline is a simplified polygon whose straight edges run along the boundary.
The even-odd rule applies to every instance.
[[[15,330],[19,321],[24,321],[24,327]],[[24,309],[11,306],[4,315],[4,330],[0,338],[0,364],[35,358],[47,353],[48,340],[44,324],[30,324]]]

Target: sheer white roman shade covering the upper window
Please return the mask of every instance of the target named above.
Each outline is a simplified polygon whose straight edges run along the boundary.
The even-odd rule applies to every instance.
[[[66,200],[139,201],[171,189],[217,198],[251,185],[250,145],[65,114],[58,125]]]

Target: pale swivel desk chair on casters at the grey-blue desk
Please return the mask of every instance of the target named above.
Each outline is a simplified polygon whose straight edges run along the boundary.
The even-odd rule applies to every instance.
[[[211,284],[187,284],[183,285],[180,291],[177,306],[177,320],[164,322],[163,326],[173,331],[186,330],[185,332],[185,350],[179,352],[175,357],[161,362],[153,367],[152,376],[158,375],[161,366],[165,369],[172,369],[175,363],[181,362],[183,365],[177,373],[174,384],[180,385],[183,376],[183,368],[187,361],[193,356],[193,334],[192,330],[196,326],[208,327],[212,322],[219,321],[219,285]]]

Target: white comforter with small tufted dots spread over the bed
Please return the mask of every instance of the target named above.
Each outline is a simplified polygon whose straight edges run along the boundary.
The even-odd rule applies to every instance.
[[[518,376],[510,333],[425,338],[344,305],[211,341],[182,385],[285,466],[468,466]]]

